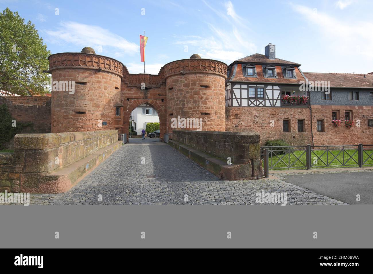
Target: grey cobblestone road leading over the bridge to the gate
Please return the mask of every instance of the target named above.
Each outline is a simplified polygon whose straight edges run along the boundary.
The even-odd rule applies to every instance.
[[[31,204],[247,205],[263,190],[286,192],[287,204],[345,204],[280,179],[220,180],[157,139],[123,145],[68,192],[31,194]]]

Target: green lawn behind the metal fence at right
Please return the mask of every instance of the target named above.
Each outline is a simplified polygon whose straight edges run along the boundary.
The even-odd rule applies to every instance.
[[[368,155],[366,154],[368,153]],[[306,154],[305,151],[291,151],[286,152],[285,154],[275,155],[275,151],[272,154],[272,163],[271,163],[271,152],[269,152],[269,169],[307,169],[306,167]],[[338,154],[339,153],[339,154]],[[354,154],[355,153],[355,154]],[[373,166],[373,150],[364,150],[363,152],[363,162],[366,161],[364,166]],[[337,156],[338,155],[338,156]],[[351,157],[352,156],[352,157]],[[320,157],[320,158],[319,158]],[[282,161],[280,160],[282,159]],[[290,158],[290,167],[288,167]],[[297,159],[299,158],[299,160]],[[332,151],[325,150],[312,150],[311,152],[312,160],[312,169],[319,168],[337,168],[337,167],[358,167],[358,153],[357,149],[336,149]],[[356,161],[356,163],[355,163]],[[324,162],[324,163],[323,163]],[[342,163],[345,166],[342,166]],[[329,165],[326,167],[326,165]],[[346,166],[347,165],[347,166]],[[272,168],[271,168],[272,167]]]

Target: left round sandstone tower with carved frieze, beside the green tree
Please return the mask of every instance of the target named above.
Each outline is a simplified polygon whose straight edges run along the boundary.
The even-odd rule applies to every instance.
[[[123,64],[95,54],[91,47],[80,53],[52,54],[48,60],[51,132],[115,129],[114,105],[121,105]]]

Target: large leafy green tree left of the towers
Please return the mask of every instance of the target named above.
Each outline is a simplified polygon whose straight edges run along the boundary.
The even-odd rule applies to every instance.
[[[44,95],[50,51],[35,25],[6,8],[0,13],[0,89],[18,95]]]

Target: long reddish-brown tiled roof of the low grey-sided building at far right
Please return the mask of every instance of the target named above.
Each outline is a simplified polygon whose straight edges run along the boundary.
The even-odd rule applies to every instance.
[[[373,74],[304,72],[304,75],[309,81],[330,81],[335,88],[373,88]]]

